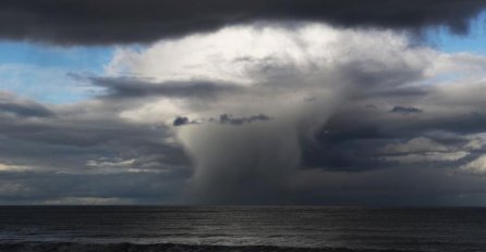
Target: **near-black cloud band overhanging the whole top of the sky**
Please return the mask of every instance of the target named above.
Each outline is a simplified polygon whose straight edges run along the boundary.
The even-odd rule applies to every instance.
[[[323,21],[335,25],[463,33],[483,0],[4,0],[0,37],[62,45],[148,42],[253,21]]]

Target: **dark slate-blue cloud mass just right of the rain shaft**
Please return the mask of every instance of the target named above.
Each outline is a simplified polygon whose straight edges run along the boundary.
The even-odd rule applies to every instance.
[[[430,88],[428,94],[417,93],[406,96],[406,100],[417,102],[424,106],[440,103],[428,100],[436,97],[437,90]],[[428,113],[420,117],[396,116],[396,113],[420,113],[416,108],[402,108],[396,113],[380,110],[377,106],[369,109],[367,102],[389,100],[393,102],[397,98],[384,94],[382,97],[370,96],[368,99],[339,109],[328,123],[316,135],[313,141],[302,143],[303,165],[307,168],[321,167],[331,171],[363,172],[367,169],[379,169],[397,167],[400,165],[415,166],[415,164],[396,162],[402,156],[404,159],[422,159],[422,167],[436,166],[457,168],[458,166],[477,158],[483,147],[475,150],[465,148],[470,144],[471,136],[482,134],[486,130],[484,114],[467,112],[474,111],[477,104],[469,102],[474,90],[466,91],[469,94],[462,101],[451,101],[453,93],[441,97],[450,108],[469,108],[464,112],[430,109]],[[444,94],[444,93],[442,93]],[[457,102],[457,103],[455,103]],[[464,104],[465,103],[465,104]],[[436,104],[434,104],[436,105]],[[470,109],[471,106],[471,109]],[[397,106],[396,106],[397,108]],[[413,111],[413,112],[411,112]],[[420,140],[426,139],[426,140]],[[404,142],[412,141],[415,147],[408,147],[404,153],[384,153],[380,150],[389,146],[404,149]],[[416,147],[420,146],[421,148]],[[433,147],[435,146],[435,147]],[[440,148],[439,148],[440,147]],[[388,159],[394,156],[392,159]],[[391,161],[394,160],[394,161]]]

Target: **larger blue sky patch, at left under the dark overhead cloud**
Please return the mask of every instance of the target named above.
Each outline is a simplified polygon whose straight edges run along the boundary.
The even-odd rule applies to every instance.
[[[62,104],[88,99],[96,88],[70,73],[100,75],[112,48],[49,47],[0,42],[0,90],[41,102]]]

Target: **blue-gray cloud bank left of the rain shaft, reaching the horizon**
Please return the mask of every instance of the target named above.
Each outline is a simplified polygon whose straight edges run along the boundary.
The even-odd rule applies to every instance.
[[[13,105],[34,103],[11,98]],[[180,200],[191,168],[184,153],[165,141],[168,130],[120,119],[116,104],[99,102],[45,106],[56,114],[47,117],[0,113],[0,203]]]

